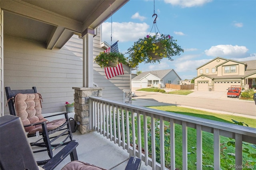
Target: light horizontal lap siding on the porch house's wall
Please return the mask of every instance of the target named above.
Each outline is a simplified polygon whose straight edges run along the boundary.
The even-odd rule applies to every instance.
[[[104,51],[99,40],[99,36],[94,37],[94,57]],[[4,36],[4,87],[36,86],[43,97],[42,113],[65,111],[65,102],[74,101],[72,87],[83,85],[82,69],[82,40],[76,35],[61,49],[46,49],[42,43]],[[124,73],[108,80],[104,69],[94,63],[94,82],[104,87],[104,98],[123,102],[122,90],[130,89],[130,67],[124,65]],[[4,107],[4,113],[9,113],[8,107]]]

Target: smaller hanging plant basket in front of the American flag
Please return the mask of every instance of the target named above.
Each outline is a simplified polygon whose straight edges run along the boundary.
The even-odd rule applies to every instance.
[[[118,63],[127,64],[127,58],[124,56],[124,54],[116,52],[101,52],[95,57],[94,61],[100,65],[101,68],[116,67]]]

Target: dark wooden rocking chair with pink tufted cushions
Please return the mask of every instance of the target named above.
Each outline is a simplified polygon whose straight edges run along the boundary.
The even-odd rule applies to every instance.
[[[40,136],[42,138],[36,142],[31,142],[31,146],[45,147],[46,149],[40,149],[34,151],[43,152],[47,151],[50,159],[53,157],[52,150],[55,150],[59,146],[66,145],[72,141],[72,132],[70,123],[68,120],[68,113],[60,113],[47,117],[54,117],[58,115],[64,115],[65,118],[57,119],[54,121],[48,121],[47,117],[42,115],[42,97],[40,93],[37,93],[36,87],[26,90],[11,90],[10,87],[5,87],[6,97],[8,99],[8,107],[11,115],[18,116],[21,118],[25,131],[28,132],[28,137]],[[49,134],[58,132],[56,136],[49,137]],[[61,136],[67,135],[66,138]],[[60,139],[63,139],[59,142]],[[70,138],[70,141],[68,140]],[[58,139],[58,140],[57,140]],[[53,142],[58,141],[54,144]],[[38,165],[43,165],[48,160],[37,161]]]

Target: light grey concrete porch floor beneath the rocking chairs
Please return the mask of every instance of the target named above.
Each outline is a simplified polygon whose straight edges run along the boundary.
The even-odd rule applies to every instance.
[[[73,117],[74,113],[69,113],[69,117]],[[55,118],[56,119],[56,118]],[[48,119],[50,121],[50,119]],[[81,134],[78,130],[72,133],[73,140],[78,142],[76,148],[78,160],[89,164],[105,168],[107,170],[124,170],[128,163],[129,153],[123,150],[118,144],[107,139],[96,131],[88,134]],[[31,140],[31,139],[29,139]],[[54,150],[54,155],[58,153],[61,148]],[[35,148],[34,148],[35,149]],[[47,152],[40,152],[34,154],[36,160],[48,159]],[[70,162],[70,156],[66,157],[55,170],[61,170],[66,164]],[[152,170],[150,166],[145,166],[141,163],[140,170]]]

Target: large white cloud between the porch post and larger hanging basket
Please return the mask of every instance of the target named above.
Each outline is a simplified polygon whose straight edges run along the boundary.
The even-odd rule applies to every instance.
[[[134,22],[113,22],[112,23],[112,43],[136,41],[139,38],[144,38],[148,32],[149,25],[146,23]],[[111,23],[104,22],[102,24],[102,41],[110,43]]]

